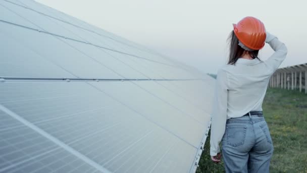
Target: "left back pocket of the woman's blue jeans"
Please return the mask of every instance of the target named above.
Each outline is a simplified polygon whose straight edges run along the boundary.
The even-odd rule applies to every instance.
[[[246,138],[246,125],[226,126],[227,145],[237,147],[244,144]]]

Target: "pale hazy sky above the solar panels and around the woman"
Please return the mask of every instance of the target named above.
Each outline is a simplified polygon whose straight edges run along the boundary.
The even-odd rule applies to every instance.
[[[216,73],[227,62],[232,23],[260,19],[288,48],[280,67],[307,63],[304,1],[36,0],[168,57]],[[273,51],[266,45],[259,57]]]

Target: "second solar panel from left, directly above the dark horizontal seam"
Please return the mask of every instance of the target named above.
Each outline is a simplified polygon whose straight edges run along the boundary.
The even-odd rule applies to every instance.
[[[97,63],[53,35],[2,22],[0,22],[0,31],[13,37],[20,44],[26,45],[41,57],[66,69],[76,77],[121,78],[117,72]]]

